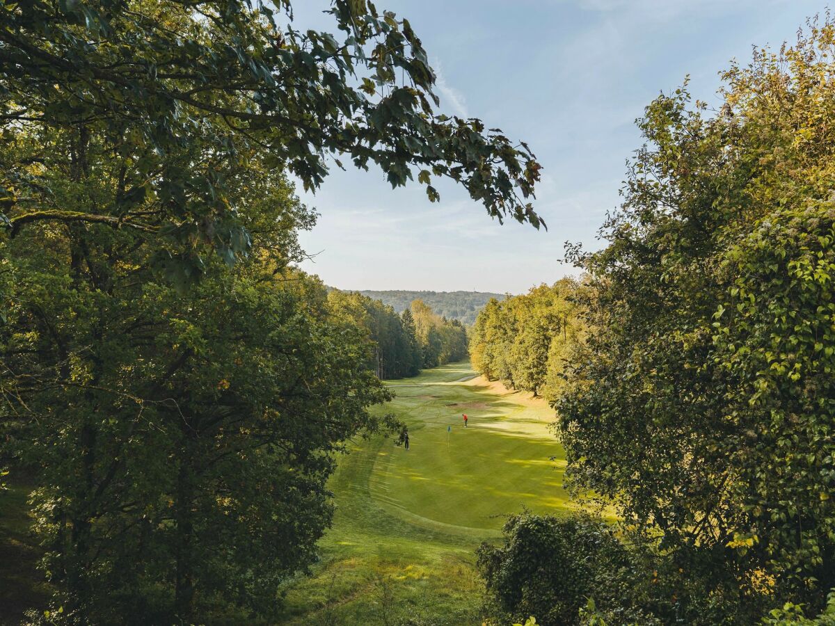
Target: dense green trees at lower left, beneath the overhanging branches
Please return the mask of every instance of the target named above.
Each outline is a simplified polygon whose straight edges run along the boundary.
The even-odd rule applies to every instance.
[[[78,265],[63,225],[0,247],[4,452],[38,476],[64,618],[191,619],[209,598],[269,614],[315,558],[333,452],[387,393],[362,331],[282,269],[294,230],[254,227],[307,220],[276,182],[251,257],[185,292],[137,280],[129,231],[85,233]]]

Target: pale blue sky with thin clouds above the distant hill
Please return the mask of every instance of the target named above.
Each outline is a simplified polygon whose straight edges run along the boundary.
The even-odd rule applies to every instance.
[[[438,74],[440,111],[526,141],[543,165],[534,208],[548,230],[505,221],[452,183],[430,204],[417,183],[392,190],[372,169],[333,169],[301,199],[321,215],[303,269],[346,290],[518,294],[574,268],[619,204],[646,104],[690,76],[721,107],[719,72],[751,47],[779,48],[826,5],[806,0],[376,0],[408,18]],[[333,32],[328,0],[296,0],[295,26]]]

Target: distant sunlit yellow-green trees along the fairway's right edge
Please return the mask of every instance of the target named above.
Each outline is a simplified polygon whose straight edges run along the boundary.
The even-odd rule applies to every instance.
[[[571,351],[584,335],[576,304],[581,288],[565,278],[524,295],[489,300],[471,331],[473,367],[510,388],[554,400]]]

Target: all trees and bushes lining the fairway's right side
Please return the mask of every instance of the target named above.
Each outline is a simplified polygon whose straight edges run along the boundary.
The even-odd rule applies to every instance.
[[[645,109],[608,245],[569,250],[584,330],[549,391],[567,484],[620,524],[512,518],[479,560],[505,616],[833,623],[833,45],[827,15],[723,73],[716,114],[686,86]],[[473,333],[483,371],[534,391],[536,300]]]

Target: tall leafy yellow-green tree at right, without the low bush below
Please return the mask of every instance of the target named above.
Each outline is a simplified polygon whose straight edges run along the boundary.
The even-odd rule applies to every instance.
[[[570,481],[747,623],[835,586],[833,32],[731,66],[716,116],[686,88],[651,103],[608,247],[574,255]]]

